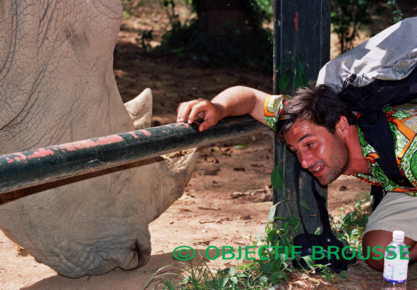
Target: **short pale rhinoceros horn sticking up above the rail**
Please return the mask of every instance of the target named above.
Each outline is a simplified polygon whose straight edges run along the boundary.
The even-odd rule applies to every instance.
[[[152,92],[145,89],[133,100],[125,103],[125,107],[131,116],[135,130],[151,127],[152,119]]]

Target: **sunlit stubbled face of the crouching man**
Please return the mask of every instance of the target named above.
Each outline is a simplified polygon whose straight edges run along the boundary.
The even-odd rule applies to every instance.
[[[285,134],[301,166],[311,171],[322,185],[327,185],[349,168],[349,149],[344,140],[325,127],[299,119]]]

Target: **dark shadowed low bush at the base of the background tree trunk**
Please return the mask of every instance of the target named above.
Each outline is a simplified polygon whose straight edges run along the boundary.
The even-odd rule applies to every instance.
[[[228,25],[220,32],[207,33],[201,30],[198,20],[194,19],[185,25],[174,25],[163,36],[158,49],[186,57],[197,64],[246,66],[253,61],[261,64],[265,61],[272,68],[272,48],[269,30],[259,28],[253,33],[244,33]]]

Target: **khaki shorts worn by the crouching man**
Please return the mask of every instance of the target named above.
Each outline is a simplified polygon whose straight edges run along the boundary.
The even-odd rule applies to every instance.
[[[404,231],[417,241],[417,196],[389,192],[371,214],[364,233],[373,230]]]

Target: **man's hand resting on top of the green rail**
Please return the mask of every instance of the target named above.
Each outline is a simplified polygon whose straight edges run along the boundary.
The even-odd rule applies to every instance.
[[[177,122],[183,122],[188,117],[188,124],[194,122],[196,117],[203,119],[198,126],[198,131],[203,131],[214,126],[224,117],[224,109],[220,104],[214,104],[206,99],[196,99],[189,102],[182,102],[177,109]]]

